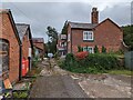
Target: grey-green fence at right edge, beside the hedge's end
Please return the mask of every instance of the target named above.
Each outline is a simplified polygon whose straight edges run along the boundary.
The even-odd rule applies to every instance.
[[[125,67],[133,70],[133,51],[125,52],[124,58],[125,58]]]

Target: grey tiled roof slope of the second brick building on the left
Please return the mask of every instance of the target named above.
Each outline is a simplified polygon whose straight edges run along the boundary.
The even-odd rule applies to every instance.
[[[22,38],[24,37],[24,34],[25,34],[25,32],[28,30],[29,24],[17,23],[16,27],[17,27],[17,30],[19,32],[20,40],[22,41]]]

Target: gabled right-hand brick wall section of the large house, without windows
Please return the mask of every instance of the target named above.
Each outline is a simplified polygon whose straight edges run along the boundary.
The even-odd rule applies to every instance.
[[[114,26],[110,20],[106,20],[96,27],[94,33],[94,40],[96,40],[95,44],[100,48],[104,46],[108,51],[117,51],[122,49],[123,31]]]

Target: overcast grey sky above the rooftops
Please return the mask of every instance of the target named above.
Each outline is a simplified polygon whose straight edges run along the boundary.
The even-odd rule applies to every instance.
[[[7,2],[6,2],[7,1]],[[21,0],[19,0],[21,1]],[[23,0],[24,1],[24,0]],[[27,0],[28,1],[28,0]],[[40,2],[39,2],[40,1]],[[33,37],[43,37],[48,41],[47,27],[54,27],[58,32],[65,20],[74,22],[91,22],[92,7],[99,10],[99,21],[106,18],[112,19],[119,26],[131,24],[132,0],[32,0],[32,2],[2,2],[2,8],[11,9],[16,23],[31,24]],[[71,1],[71,2],[70,2]]]

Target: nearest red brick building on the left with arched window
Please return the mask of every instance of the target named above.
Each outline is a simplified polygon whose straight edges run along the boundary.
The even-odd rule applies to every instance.
[[[0,10],[0,68],[3,80],[21,77],[21,41],[10,10]]]

